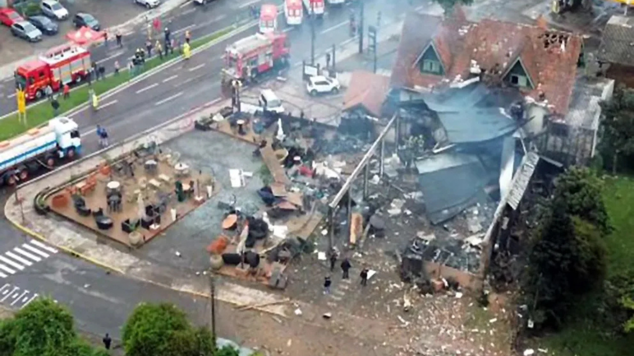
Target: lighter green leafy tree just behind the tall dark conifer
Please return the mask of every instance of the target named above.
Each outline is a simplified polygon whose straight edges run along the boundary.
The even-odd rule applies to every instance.
[[[563,201],[569,215],[586,220],[607,234],[611,225],[602,190],[603,182],[590,169],[571,167],[557,177],[553,199]]]

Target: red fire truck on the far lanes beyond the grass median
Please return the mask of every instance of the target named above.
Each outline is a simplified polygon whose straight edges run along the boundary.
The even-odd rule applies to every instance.
[[[24,90],[27,100],[39,99],[48,85],[58,91],[64,84],[81,82],[90,66],[90,53],[85,48],[60,46],[20,65],[15,70],[15,85]]]

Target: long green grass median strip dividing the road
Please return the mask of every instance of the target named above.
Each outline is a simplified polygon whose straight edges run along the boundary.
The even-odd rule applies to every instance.
[[[191,50],[203,46],[223,35],[226,35],[233,31],[234,27],[227,27],[225,29],[214,32],[213,34],[201,37],[199,39],[195,39],[190,42]],[[163,63],[172,60],[181,54],[179,51],[174,51],[174,53],[168,54],[167,56],[163,56],[163,59],[160,59],[159,56],[153,56],[152,58],[145,61],[145,65],[138,73],[136,73],[135,77],[141,75],[142,73],[147,72],[148,70],[152,70],[152,68],[156,68]],[[126,64],[126,63],[124,63]],[[63,99],[58,98],[58,102],[60,103],[60,115],[63,113],[77,108],[88,101],[88,90],[90,88],[94,89],[97,95],[101,95],[107,91],[110,91],[118,86],[126,84],[129,80],[133,79],[131,74],[128,72],[127,68],[122,68],[119,71],[119,75],[113,75],[112,73],[108,75],[105,79],[102,80],[93,80],[91,83],[91,87],[84,84],[72,90],[70,92],[70,98]],[[0,141],[4,141],[6,139],[11,139],[11,137],[17,136],[26,132],[33,127],[40,126],[42,124],[46,124],[48,120],[55,117],[55,113],[53,111],[53,107],[48,100],[42,100],[40,103],[35,105],[31,105],[27,107],[27,124],[25,125],[23,122],[20,122],[18,119],[18,114],[13,113],[8,117],[0,120]]]

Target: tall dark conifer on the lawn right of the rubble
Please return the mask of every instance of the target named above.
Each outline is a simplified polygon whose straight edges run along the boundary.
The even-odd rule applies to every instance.
[[[534,236],[524,291],[538,324],[561,326],[576,296],[591,291],[605,276],[601,232],[566,211],[555,199]]]

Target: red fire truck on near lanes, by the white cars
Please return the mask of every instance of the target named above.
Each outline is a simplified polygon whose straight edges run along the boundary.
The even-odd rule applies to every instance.
[[[286,34],[254,34],[227,47],[223,83],[238,79],[248,82],[258,75],[288,65]]]

